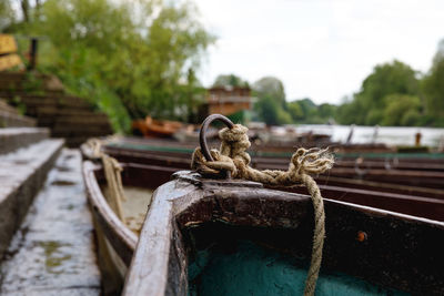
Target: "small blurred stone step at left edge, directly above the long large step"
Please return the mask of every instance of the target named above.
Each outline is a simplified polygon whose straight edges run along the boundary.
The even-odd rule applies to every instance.
[[[44,127],[4,127],[0,129],[0,154],[48,139],[49,129]]]

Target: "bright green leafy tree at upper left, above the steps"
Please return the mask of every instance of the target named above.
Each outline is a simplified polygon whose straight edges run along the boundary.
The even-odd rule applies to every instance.
[[[47,0],[20,30],[48,38],[40,70],[89,98],[117,130],[147,114],[192,119],[203,100],[194,71],[214,37],[190,2]]]

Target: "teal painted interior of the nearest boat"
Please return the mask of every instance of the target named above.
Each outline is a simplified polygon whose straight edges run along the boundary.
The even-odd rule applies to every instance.
[[[281,254],[250,241],[230,252],[199,251],[190,258],[190,296],[303,295],[307,261]],[[322,267],[321,267],[322,269]],[[316,295],[408,295],[339,273],[322,272]]]

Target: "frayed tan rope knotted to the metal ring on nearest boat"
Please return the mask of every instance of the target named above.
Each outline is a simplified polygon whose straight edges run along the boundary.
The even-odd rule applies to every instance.
[[[229,172],[233,178],[244,178],[268,185],[303,184],[306,186],[314,207],[314,233],[304,295],[314,295],[325,237],[325,213],[320,188],[310,175],[330,170],[334,163],[333,156],[327,153],[327,150],[299,149],[293,154],[287,171],[259,171],[249,165],[251,157],[245,150],[251,143],[246,132],[248,129],[241,124],[221,130],[219,132],[222,141],[220,150],[210,151],[214,161],[206,161],[201,149],[198,147],[193,153],[191,167],[205,176],[223,176]]]

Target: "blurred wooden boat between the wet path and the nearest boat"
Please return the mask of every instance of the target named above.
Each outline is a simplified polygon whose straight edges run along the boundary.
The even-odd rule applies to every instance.
[[[137,163],[124,163],[122,166],[122,182],[128,197],[128,201],[123,202],[125,222],[119,218],[109,204],[102,166],[91,161],[83,162],[82,173],[93,214],[104,295],[120,294],[151,194],[159,185],[168,182],[175,171]]]

